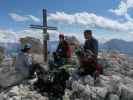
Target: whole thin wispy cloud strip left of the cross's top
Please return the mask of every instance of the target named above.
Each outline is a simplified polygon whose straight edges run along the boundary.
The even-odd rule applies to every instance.
[[[34,22],[40,22],[40,19],[33,15],[19,15],[17,13],[9,13],[9,16],[12,18],[12,20],[16,22],[25,22],[29,20],[32,20]]]

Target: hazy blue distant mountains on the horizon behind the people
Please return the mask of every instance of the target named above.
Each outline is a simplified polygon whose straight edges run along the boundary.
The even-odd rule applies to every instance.
[[[57,48],[58,41],[48,42],[48,51],[54,52]],[[13,55],[20,50],[19,43],[0,43],[0,47],[5,48],[6,55]],[[106,43],[100,44],[99,50],[117,50],[121,53],[133,56],[133,41],[124,41],[120,39],[112,39]]]

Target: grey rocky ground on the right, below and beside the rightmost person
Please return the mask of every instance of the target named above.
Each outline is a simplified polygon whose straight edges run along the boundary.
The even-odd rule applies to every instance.
[[[103,74],[97,80],[90,76],[70,77],[71,100],[133,100],[132,58],[124,54],[99,55]],[[86,79],[87,81],[84,81]],[[90,84],[97,83],[97,84]]]

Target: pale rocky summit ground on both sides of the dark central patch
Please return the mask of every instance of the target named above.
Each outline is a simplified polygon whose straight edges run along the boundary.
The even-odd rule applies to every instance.
[[[73,68],[73,74],[66,82],[64,100],[133,100],[133,58],[104,52],[99,54],[98,61],[103,73],[96,80],[89,75],[77,76],[74,74],[76,68]],[[1,88],[0,100],[48,100],[47,95],[33,89],[35,81],[28,80],[7,89]]]

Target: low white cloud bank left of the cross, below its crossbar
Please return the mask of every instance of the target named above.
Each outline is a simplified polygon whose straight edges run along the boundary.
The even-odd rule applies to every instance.
[[[0,42],[4,43],[16,43],[19,42],[20,38],[30,36],[38,39],[42,39],[42,33],[39,30],[22,30],[22,31],[12,31],[6,29],[0,29]]]

